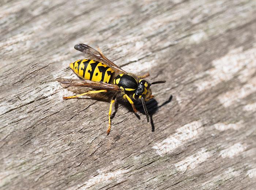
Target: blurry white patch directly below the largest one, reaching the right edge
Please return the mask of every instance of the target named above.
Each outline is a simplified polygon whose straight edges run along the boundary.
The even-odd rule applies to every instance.
[[[242,87],[236,87],[234,90],[228,91],[218,97],[219,101],[225,107],[229,107],[234,102],[240,102],[242,98],[256,91],[256,77],[250,79],[247,84]]]

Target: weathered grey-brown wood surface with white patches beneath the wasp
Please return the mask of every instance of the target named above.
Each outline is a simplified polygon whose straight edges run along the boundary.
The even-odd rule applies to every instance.
[[[1,189],[256,188],[255,0],[0,5]],[[121,105],[106,136],[108,103],[62,100],[76,43],[167,80],[154,132]]]

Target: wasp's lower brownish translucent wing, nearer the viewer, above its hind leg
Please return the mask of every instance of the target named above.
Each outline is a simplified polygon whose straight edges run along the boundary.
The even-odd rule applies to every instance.
[[[91,80],[83,80],[83,79],[56,79],[58,82],[62,84],[66,84],[68,86],[81,86],[81,87],[90,87],[96,89],[103,90],[112,90],[112,91],[120,91],[120,87],[115,84],[108,84],[103,82],[95,82]]]

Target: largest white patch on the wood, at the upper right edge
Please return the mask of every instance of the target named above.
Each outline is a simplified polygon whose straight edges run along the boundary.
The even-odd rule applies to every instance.
[[[212,61],[212,65],[213,68],[196,76],[208,75],[196,84],[198,91],[214,87],[235,75],[241,82],[246,82],[256,72],[256,47],[246,51],[242,47],[231,50],[222,58]]]

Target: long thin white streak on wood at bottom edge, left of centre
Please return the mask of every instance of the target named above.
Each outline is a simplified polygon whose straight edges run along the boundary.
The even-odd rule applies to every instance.
[[[112,179],[117,179],[123,176],[123,174],[127,173],[129,170],[117,170],[117,171],[113,171],[113,172],[109,172],[109,173],[102,173],[99,172],[98,175],[90,178],[88,181],[83,182],[80,185],[77,185],[76,187],[70,187],[68,188],[68,190],[71,189],[87,189],[91,186],[94,186],[98,183],[108,183],[110,182]]]

